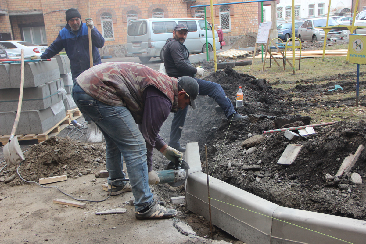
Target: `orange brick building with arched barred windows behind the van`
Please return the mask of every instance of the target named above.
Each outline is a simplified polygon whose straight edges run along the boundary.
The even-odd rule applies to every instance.
[[[214,0],[213,3],[233,3],[241,0]],[[199,0],[132,0],[90,1],[90,17],[105,38],[101,55],[124,56],[127,23],[132,19],[203,17],[209,1]],[[260,5],[260,4],[259,4]],[[38,45],[50,45],[66,25],[65,11],[77,8],[82,20],[87,18],[87,1],[71,0],[0,0],[0,40],[25,40]],[[210,7],[206,8],[211,20]],[[213,7],[215,25],[221,25],[227,41],[258,30],[258,3],[219,5]]]

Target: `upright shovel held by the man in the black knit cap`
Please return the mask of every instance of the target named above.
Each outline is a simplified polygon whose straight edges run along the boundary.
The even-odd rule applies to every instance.
[[[90,3],[88,1],[87,4],[87,12],[88,12],[88,18],[90,17]],[[85,20],[86,22],[86,20]],[[93,45],[91,43],[91,29],[88,27],[88,37],[89,37],[89,62],[90,62],[90,68],[93,67]],[[93,121],[88,121],[87,123],[87,130],[86,130],[86,138],[85,142],[87,143],[96,143],[96,142],[102,142],[103,141],[103,134],[98,129],[97,125],[93,123]]]

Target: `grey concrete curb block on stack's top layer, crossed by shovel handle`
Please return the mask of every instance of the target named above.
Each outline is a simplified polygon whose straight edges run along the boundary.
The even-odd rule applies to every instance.
[[[20,67],[20,63],[10,64],[11,88],[20,87]],[[37,87],[56,79],[60,79],[60,69],[55,58],[24,64],[24,87]]]

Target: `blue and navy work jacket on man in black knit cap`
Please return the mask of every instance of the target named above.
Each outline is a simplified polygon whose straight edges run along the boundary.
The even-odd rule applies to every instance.
[[[90,68],[88,27],[83,22],[80,25],[78,34],[75,35],[72,33],[71,27],[66,24],[60,30],[56,40],[41,55],[41,59],[51,59],[51,57],[61,52],[62,49],[65,49],[70,59],[72,80],[74,82],[82,72]],[[104,38],[95,26],[91,30],[91,40],[93,44],[93,65],[101,64],[102,61],[98,48],[104,46]]]

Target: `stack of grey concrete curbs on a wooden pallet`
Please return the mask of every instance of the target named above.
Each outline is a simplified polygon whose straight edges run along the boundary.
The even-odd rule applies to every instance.
[[[10,135],[18,108],[20,63],[0,64],[0,135]],[[66,111],[77,106],[72,101],[70,81],[65,87],[61,75],[69,76],[70,61],[56,55],[51,61],[24,65],[22,112],[16,134],[42,134],[66,117]],[[70,77],[71,78],[71,77]],[[72,80],[71,80],[72,88]]]

